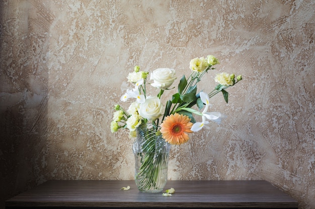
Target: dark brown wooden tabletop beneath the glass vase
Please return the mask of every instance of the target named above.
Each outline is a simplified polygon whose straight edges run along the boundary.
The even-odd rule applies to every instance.
[[[120,190],[130,186],[129,190]],[[297,208],[267,181],[168,181],[172,196],[142,193],[134,181],[50,180],[6,201],[6,208]]]

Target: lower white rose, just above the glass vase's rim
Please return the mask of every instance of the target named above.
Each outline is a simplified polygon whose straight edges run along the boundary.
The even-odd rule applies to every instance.
[[[140,104],[138,110],[139,115],[149,121],[155,121],[163,115],[163,104],[157,96],[148,96],[143,103]]]

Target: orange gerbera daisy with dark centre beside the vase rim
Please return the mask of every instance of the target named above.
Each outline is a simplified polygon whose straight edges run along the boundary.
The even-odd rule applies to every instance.
[[[180,145],[189,140],[187,133],[192,133],[190,130],[192,126],[193,123],[188,116],[175,113],[165,118],[161,124],[161,133],[168,143]]]

